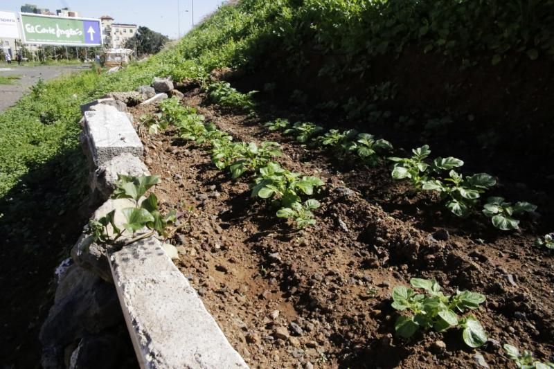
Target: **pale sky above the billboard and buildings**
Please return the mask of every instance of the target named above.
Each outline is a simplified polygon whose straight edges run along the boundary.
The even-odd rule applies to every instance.
[[[116,23],[147,26],[175,39],[179,35],[179,23],[181,36],[192,28],[193,3],[197,24],[206,15],[217,10],[222,0],[0,0],[0,10],[19,12],[25,3],[50,9],[53,13],[56,9],[70,8],[79,12],[79,17],[99,18],[109,15]]]

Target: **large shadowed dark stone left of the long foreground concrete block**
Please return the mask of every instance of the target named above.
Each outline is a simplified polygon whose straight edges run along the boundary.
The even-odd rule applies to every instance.
[[[73,264],[60,280],[54,305],[39,333],[42,365],[56,368],[63,363],[67,345],[85,334],[114,327],[122,320],[114,285]]]

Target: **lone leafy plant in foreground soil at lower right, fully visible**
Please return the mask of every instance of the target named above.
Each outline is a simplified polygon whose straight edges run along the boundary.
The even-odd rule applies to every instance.
[[[409,338],[420,329],[433,328],[436,332],[444,332],[456,327],[463,330],[463,341],[472,348],[478,348],[487,341],[487,333],[475,316],[459,317],[456,314],[465,313],[468,309],[477,309],[485,301],[485,296],[470,291],[456,291],[456,295],[447,296],[440,291],[440,285],[436,280],[412,278],[410,285],[424,289],[427,294],[418,294],[404,286],[393,289],[392,307],[400,312],[411,312],[411,315],[401,315],[397,318],[396,334]]]

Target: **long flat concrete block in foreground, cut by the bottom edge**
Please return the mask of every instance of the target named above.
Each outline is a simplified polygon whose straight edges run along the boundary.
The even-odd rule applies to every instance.
[[[247,368],[158,240],[109,262],[141,368]]]

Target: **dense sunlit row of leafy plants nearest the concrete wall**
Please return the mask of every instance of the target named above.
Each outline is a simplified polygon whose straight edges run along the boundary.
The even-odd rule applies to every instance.
[[[179,137],[186,141],[206,144],[214,165],[228,170],[232,179],[249,177],[251,197],[267,200],[277,209],[277,217],[293,219],[299,229],[316,224],[312,210],[320,204],[312,196],[323,181],[281,167],[275,161],[281,155],[278,143],[235,142],[230,134],[206,122],[196,109],[184,107],[177,98],[164,100],[160,109],[162,115],[156,116],[155,121],[175,125]]]

